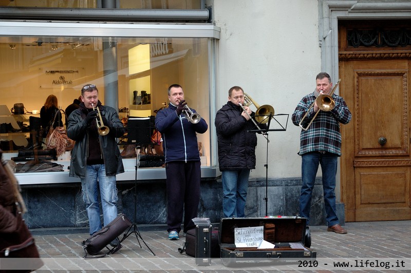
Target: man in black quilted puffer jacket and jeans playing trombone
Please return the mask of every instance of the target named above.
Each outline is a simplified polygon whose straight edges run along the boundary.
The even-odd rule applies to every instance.
[[[246,217],[248,178],[255,169],[257,136],[249,130],[257,129],[251,118],[255,113],[244,105],[244,90],[233,86],[228,91],[228,102],[217,111],[215,127],[218,140],[218,164],[222,179],[222,211],[224,217]],[[247,111],[247,113],[246,113]],[[260,124],[260,128],[266,128]]]

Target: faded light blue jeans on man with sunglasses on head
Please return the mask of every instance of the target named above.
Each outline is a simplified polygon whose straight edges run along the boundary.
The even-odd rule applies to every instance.
[[[98,179],[98,180],[97,180]],[[83,201],[90,224],[90,235],[99,231],[101,226],[98,191],[101,194],[104,226],[117,217],[117,188],[116,175],[106,176],[104,164],[87,165],[86,177],[81,179]]]

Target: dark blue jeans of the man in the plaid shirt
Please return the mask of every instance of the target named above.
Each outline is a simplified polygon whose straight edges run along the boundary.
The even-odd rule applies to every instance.
[[[335,207],[335,175],[337,174],[337,154],[308,152],[302,155],[303,186],[300,194],[300,216],[310,219],[312,189],[319,164],[323,173],[324,206],[328,226],[339,224]]]

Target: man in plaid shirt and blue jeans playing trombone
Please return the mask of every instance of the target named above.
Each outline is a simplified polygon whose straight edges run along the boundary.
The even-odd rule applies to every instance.
[[[302,122],[305,129],[317,111],[320,111],[307,130],[300,134],[300,151],[302,157],[303,186],[300,194],[300,216],[307,218],[309,223],[312,190],[319,164],[323,173],[324,205],[328,231],[347,233],[341,227],[335,205],[335,175],[337,174],[338,157],[341,156],[340,123],[347,124],[351,120],[351,112],[341,96],[332,95],[335,106],[330,111],[319,109],[316,98],[321,94],[329,94],[332,90],[331,77],[321,72],[316,78],[316,88],[313,93],[303,97],[292,114],[292,122],[299,126]],[[310,106],[313,105],[313,107]]]

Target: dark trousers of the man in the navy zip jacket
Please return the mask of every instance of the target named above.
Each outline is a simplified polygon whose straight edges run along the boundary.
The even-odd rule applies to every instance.
[[[173,161],[165,164],[167,185],[167,231],[180,232],[184,212],[183,232],[195,227],[200,202],[200,161]]]

